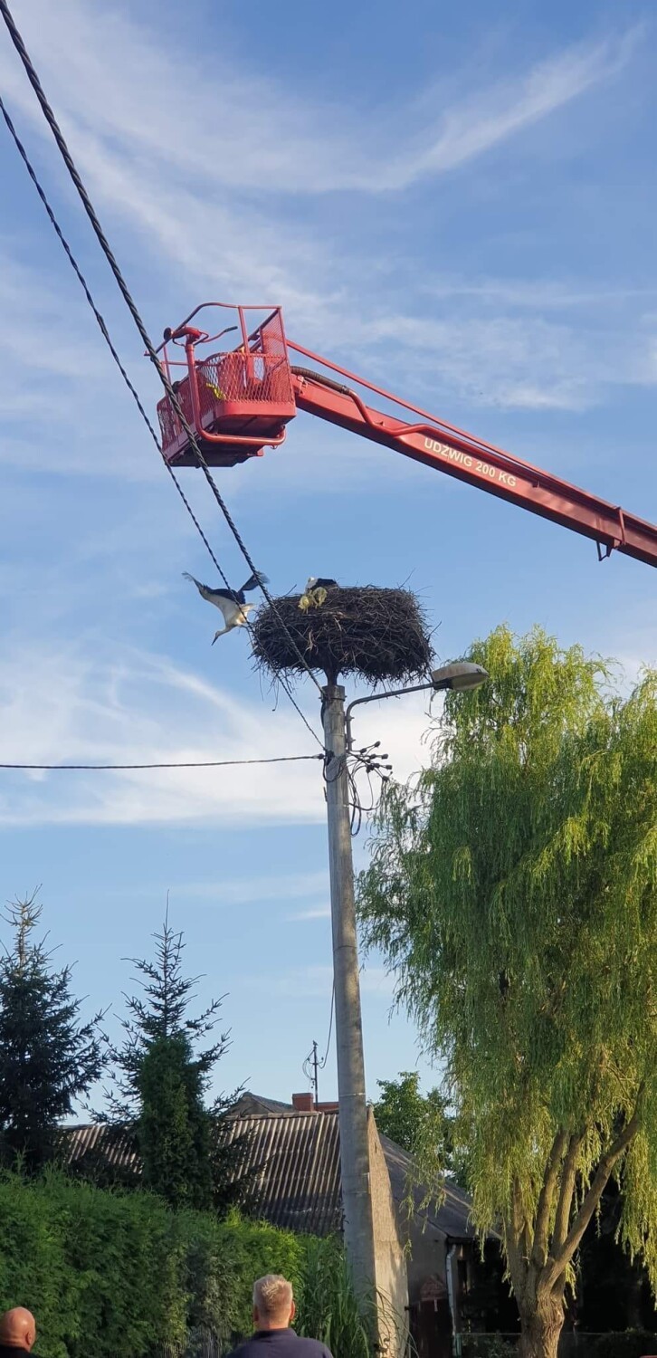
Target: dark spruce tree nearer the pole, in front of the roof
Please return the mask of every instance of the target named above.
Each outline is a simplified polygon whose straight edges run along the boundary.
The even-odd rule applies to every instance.
[[[115,1086],[110,1119],[132,1123],[143,1184],[172,1207],[227,1209],[238,1196],[236,1146],[219,1137],[232,1099],[206,1105],[214,1066],[229,1046],[229,1032],[202,1050],[219,1020],[223,998],[190,1017],[200,976],[183,974],[183,934],[168,923],[155,936],[152,960],[132,957],[141,994],[126,995],[124,1042],[111,1048]]]

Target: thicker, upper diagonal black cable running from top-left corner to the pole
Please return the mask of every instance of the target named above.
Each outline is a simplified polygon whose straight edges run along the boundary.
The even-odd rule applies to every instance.
[[[57,122],[57,118],[54,117],[54,113],[53,113],[53,110],[52,110],[52,107],[50,107],[50,105],[49,105],[49,102],[46,99],[46,95],[43,92],[41,80],[39,80],[39,77],[37,75],[35,67],[34,67],[34,64],[31,61],[31,57],[30,57],[30,54],[27,52],[27,48],[26,48],[24,42],[23,42],[23,38],[22,38],[22,35],[20,35],[18,27],[16,27],[16,23],[14,20],[11,10],[10,10],[8,4],[7,4],[7,0],[0,0],[0,14],[3,15],[3,19],[5,22],[7,30],[8,30],[10,37],[11,37],[11,41],[12,41],[12,43],[14,43],[14,46],[15,46],[15,49],[16,49],[16,52],[18,52],[20,60],[22,60],[22,62],[23,62],[23,68],[26,71],[27,79],[29,79],[33,90],[34,90],[34,94],[37,95],[37,99],[38,99],[39,106],[41,106],[41,111],[43,113],[43,117],[45,117],[45,120],[46,120],[46,122],[48,122],[48,125],[50,128],[50,132],[53,133],[53,137],[54,137],[54,140],[57,143],[57,147],[60,149],[60,153],[62,156],[64,164],[67,166],[67,170],[68,170],[68,172],[71,175],[71,179],[73,181],[73,185],[75,185],[75,187],[77,190],[77,194],[80,197],[83,208],[84,208],[84,210],[86,210],[86,213],[87,213],[87,216],[88,216],[88,219],[91,221],[91,225],[94,228],[96,239],[98,239],[98,242],[100,244],[100,249],[102,249],[102,251],[103,251],[103,254],[105,254],[105,257],[107,259],[107,263],[110,265],[110,269],[111,269],[111,272],[114,274],[114,278],[115,278],[117,285],[119,288],[119,292],[121,292],[121,295],[124,297],[124,301],[125,301],[125,304],[126,304],[126,307],[128,307],[128,310],[129,310],[129,312],[130,312],[130,315],[132,315],[132,318],[134,320],[134,325],[136,325],[136,327],[138,330],[140,338],[141,338],[141,341],[143,341],[143,344],[144,344],[145,349],[147,349],[148,357],[151,359],[151,363],[153,364],[153,367],[155,367],[155,369],[156,369],[156,372],[157,372],[157,375],[160,378],[160,382],[162,382],[162,384],[164,387],[164,391],[166,391],[166,394],[168,397],[168,401],[170,401],[172,409],[175,410],[175,413],[176,413],[176,416],[178,416],[178,418],[181,421],[181,425],[182,425],[182,428],[183,428],[183,430],[185,430],[185,433],[186,433],[186,436],[187,436],[187,439],[189,439],[189,441],[190,441],[190,444],[191,444],[191,447],[193,447],[193,449],[195,452],[195,456],[198,459],[198,464],[200,464],[200,467],[201,467],[201,470],[202,470],[202,473],[205,475],[205,479],[206,479],[206,482],[208,482],[208,485],[209,485],[209,488],[210,488],[210,490],[212,490],[212,493],[214,496],[214,500],[216,500],[219,508],[221,509],[221,513],[224,515],[224,519],[225,519],[225,521],[227,521],[227,524],[228,524],[228,527],[229,527],[229,530],[231,530],[231,532],[232,532],[232,535],[235,538],[235,542],[238,543],[238,547],[242,551],[242,555],[244,557],[244,561],[247,562],[248,569],[251,570],[252,574],[255,574],[258,577],[258,570],[257,570],[257,568],[254,565],[254,561],[252,561],[252,558],[251,558],[251,555],[250,555],[250,553],[248,553],[248,550],[246,547],[246,543],[242,539],[242,535],[240,535],[240,532],[238,530],[236,523],[232,519],[232,515],[231,515],[231,512],[228,509],[228,505],[225,504],[225,501],[224,501],[224,498],[223,498],[223,496],[221,496],[221,493],[219,490],[219,486],[216,485],[216,482],[214,482],[214,479],[212,477],[209,466],[208,466],[208,463],[206,463],[206,460],[205,460],[205,458],[204,458],[204,455],[201,452],[201,448],[198,445],[195,433],[191,429],[191,426],[189,425],[189,422],[186,420],[186,416],[185,416],[185,413],[183,413],[183,410],[181,407],[181,403],[178,401],[178,397],[176,397],[176,394],[175,394],[175,391],[174,391],[174,388],[172,388],[172,386],[171,386],[171,383],[170,383],[170,380],[168,380],[168,378],[167,378],[167,375],[166,375],[166,372],[164,372],[164,369],[163,369],[163,367],[160,364],[160,360],[157,359],[155,348],[153,348],[153,345],[151,342],[151,337],[149,337],[149,334],[148,334],[148,331],[147,331],[147,329],[144,326],[144,322],[143,322],[141,315],[140,315],[140,312],[137,310],[137,306],[136,306],[136,303],[134,303],[134,300],[133,300],[133,297],[130,295],[130,291],[129,291],[128,284],[126,284],[126,281],[124,278],[124,274],[121,273],[121,269],[119,269],[119,266],[117,263],[117,259],[115,259],[115,257],[114,257],[114,254],[113,254],[113,251],[110,249],[109,240],[107,240],[107,238],[106,238],[106,235],[103,232],[103,228],[102,228],[100,221],[99,221],[99,219],[96,216],[95,208],[94,208],[94,205],[91,202],[91,198],[90,198],[90,196],[88,196],[88,193],[87,193],[87,190],[84,187],[84,183],[83,183],[83,181],[80,178],[80,174],[79,174],[79,171],[76,168],[76,164],[73,162],[71,151],[68,149],[68,145],[67,145],[67,143],[64,140],[64,134],[62,134],[61,128],[60,128],[60,125]],[[223,574],[221,570],[220,570],[220,574],[221,574],[221,579],[224,580],[224,584],[225,584],[227,589],[229,589],[231,587],[229,587],[229,584],[228,584],[228,581],[227,581],[227,579],[225,579],[225,576]],[[295,638],[288,631],[288,627],[285,626],[285,622],[281,618],[281,615],[278,612],[278,608],[276,607],[276,603],[271,599],[271,595],[269,593],[266,585],[259,579],[258,579],[258,584],[259,584],[259,588],[262,589],[262,593],[265,595],[265,599],[267,600],[269,607],[273,608],[273,611],[276,612],[276,615],[278,618],[278,622],[281,623],[282,630],[285,631],[288,640],[290,641],[290,644],[293,646],[293,650],[297,655],[297,659],[301,661],[304,669],[307,671],[307,674],[312,679],[312,683],[315,684],[315,687],[318,689],[318,691],[322,693],[322,686],[320,686],[316,675],[309,668],[308,661],[305,660],[305,656],[299,649],[299,646],[296,645]],[[304,721],[305,721],[305,718],[304,718]],[[307,725],[308,725],[308,722],[307,722]],[[314,732],[314,735],[315,735],[315,732]],[[315,739],[318,740],[319,744],[322,744],[322,741],[319,741],[319,739],[318,739],[316,735],[315,735]]]

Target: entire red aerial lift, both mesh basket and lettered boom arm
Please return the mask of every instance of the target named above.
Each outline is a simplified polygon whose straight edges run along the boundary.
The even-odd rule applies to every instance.
[[[464,429],[437,420],[418,406],[400,401],[381,387],[293,344],[285,338],[280,308],[269,311],[251,334],[244,310],[257,308],[235,310],[242,344],[229,353],[197,360],[197,344],[208,342],[210,337],[189,325],[195,312],[175,331],[166,331],[166,342],[185,344],[183,365],[187,368],[187,378],[176,383],[176,395],[195,430],[204,456],[213,466],[232,466],[262,455],[267,445],[281,444],[285,425],[296,410],[304,410],[592,538],[600,558],[622,551],[649,566],[657,566],[654,524],[505,452],[504,448],[476,439]],[[168,371],[171,360],[166,345],[163,348]],[[337,382],[315,368],[290,365],[289,350],[346,378],[348,383],[376,392],[398,407],[419,416],[419,420],[387,414],[367,405],[350,384]],[[195,454],[168,398],[160,402],[157,413],[164,456],[172,463],[194,464]]]

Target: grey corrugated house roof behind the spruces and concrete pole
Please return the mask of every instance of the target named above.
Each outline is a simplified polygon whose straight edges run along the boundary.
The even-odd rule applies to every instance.
[[[342,1229],[339,1122],[335,1109],[299,1112],[290,1104],[243,1095],[236,1115],[221,1122],[224,1145],[240,1143],[235,1175],[246,1184],[244,1210],[286,1230],[327,1236]],[[411,1157],[380,1135],[392,1196],[407,1198]],[[80,1164],[100,1157],[117,1169],[140,1172],[128,1130],[107,1126],[72,1127],[67,1160]],[[424,1209],[415,1190],[417,1215],[443,1237],[471,1240],[470,1198],[447,1186],[438,1207]]]

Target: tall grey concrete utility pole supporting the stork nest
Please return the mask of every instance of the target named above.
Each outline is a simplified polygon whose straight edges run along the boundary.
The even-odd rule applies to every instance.
[[[339,1156],[345,1243],[358,1297],[376,1287],[375,1230],[369,1183],[365,1061],[362,1055],[358,944],[353,883],[349,779],[346,774],[345,690],[323,689],[324,746],[331,879],[335,1046],[338,1052]]]

